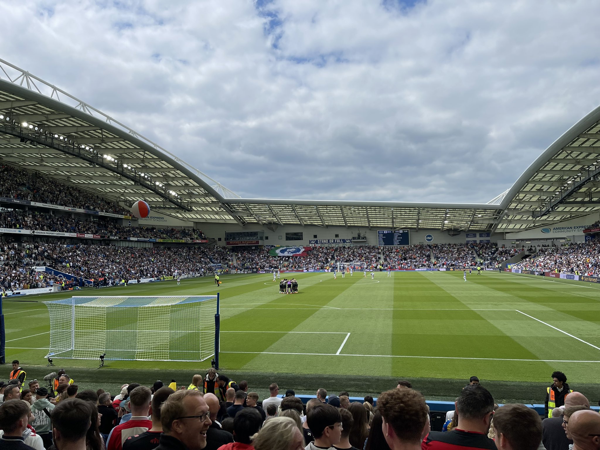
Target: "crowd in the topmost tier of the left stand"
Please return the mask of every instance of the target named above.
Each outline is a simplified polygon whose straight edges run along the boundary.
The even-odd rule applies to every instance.
[[[118,203],[61,183],[55,178],[13,166],[0,166],[0,197],[131,215],[131,211]]]

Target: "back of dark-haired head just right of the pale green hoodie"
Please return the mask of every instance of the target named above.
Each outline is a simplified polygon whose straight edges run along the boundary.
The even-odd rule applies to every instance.
[[[68,398],[56,405],[50,414],[56,448],[85,448],[86,434],[92,425],[92,407],[89,401],[79,398]]]

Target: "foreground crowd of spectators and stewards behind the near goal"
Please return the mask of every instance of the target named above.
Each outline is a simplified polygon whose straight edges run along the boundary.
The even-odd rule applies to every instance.
[[[125,383],[117,395],[85,389],[64,369],[26,383],[13,361],[0,382],[0,445],[9,450],[598,450],[600,415],[553,374],[544,419],[524,404],[499,406],[471,377],[446,413],[432,421],[424,395],[407,380],[350,398],[319,388],[306,403],[277,383],[260,401],[248,382],[214,368],[190,385]],[[390,386],[391,387],[391,386]],[[547,394],[544,389],[544,394]],[[437,416],[436,416],[437,418]],[[440,430],[441,428],[441,430]]]

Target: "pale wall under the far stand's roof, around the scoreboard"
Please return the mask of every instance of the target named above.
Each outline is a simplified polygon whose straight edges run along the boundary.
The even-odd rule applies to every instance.
[[[367,241],[355,242],[354,245],[377,245],[377,230],[389,230],[386,227],[319,227],[314,225],[279,225],[275,231],[259,224],[247,224],[245,227],[239,227],[236,224],[223,223],[202,223],[202,231],[210,238],[221,238],[217,245],[226,245],[226,232],[239,231],[263,231],[265,232],[264,245],[310,245],[311,239],[352,239],[358,233],[366,236]],[[303,233],[301,241],[286,241],[286,233]],[[314,236],[317,236],[314,238]],[[337,236],[336,236],[337,235]],[[268,236],[268,239],[267,239]],[[280,239],[281,236],[281,239]],[[429,236],[429,237],[428,237]],[[497,233],[489,238],[491,242],[502,239],[503,234]],[[466,242],[466,233],[461,231],[457,236],[448,235],[447,231],[440,230],[415,230],[410,229],[410,244],[464,244]],[[340,244],[343,245],[343,244]]]

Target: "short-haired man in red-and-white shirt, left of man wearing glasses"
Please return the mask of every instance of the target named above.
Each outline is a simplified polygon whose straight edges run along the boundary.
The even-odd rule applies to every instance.
[[[184,391],[198,392],[199,391]],[[124,424],[117,425],[110,431],[106,442],[106,450],[122,450],[123,443],[130,436],[145,433],[152,428],[152,421],[148,420],[150,399],[152,392],[146,386],[137,386],[129,394],[129,406],[131,408],[131,419]]]

